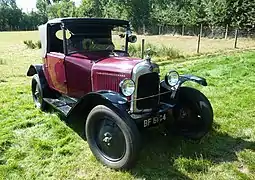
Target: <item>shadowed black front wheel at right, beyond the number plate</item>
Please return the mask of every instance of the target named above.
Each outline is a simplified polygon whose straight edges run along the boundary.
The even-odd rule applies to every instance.
[[[170,128],[174,134],[199,140],[212,128],[213,109],[203,93],[194,88],[181,87],[173,117]]]

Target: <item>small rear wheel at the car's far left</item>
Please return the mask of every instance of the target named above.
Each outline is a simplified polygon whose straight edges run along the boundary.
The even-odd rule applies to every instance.
[[[41,109],[42,111],[46,111],[47,103],[43,100],[44,89],[42,89],[38,74],[35,74],[32,78],[31,89],[35,107]]]

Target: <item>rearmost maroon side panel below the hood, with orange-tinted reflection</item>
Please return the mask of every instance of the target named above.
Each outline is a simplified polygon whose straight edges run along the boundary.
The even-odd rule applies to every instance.
[[[65,55],[63,53],[47,53],[45,68],[49,86],[62,94],[67,94],[64,60]]]

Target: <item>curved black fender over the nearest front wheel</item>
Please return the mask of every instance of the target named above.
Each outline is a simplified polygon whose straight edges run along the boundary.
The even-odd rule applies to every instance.
[[[90,111],[97,105],[105,105],[117,113],[121,118],[130,118],[129,103],[121,94],[114,91],[91,92],[83,96],[67,114],[67,122],[73,126],[85,127]]]

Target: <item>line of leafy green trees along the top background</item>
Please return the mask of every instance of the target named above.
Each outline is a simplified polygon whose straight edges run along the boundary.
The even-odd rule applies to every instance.
[[[37,0],[24,13],[15,0],[0,0],[0,30],[32,30],[58,17],[106,17],[131,21],[136,32],[152,25],[255,28],[254,0]]]

